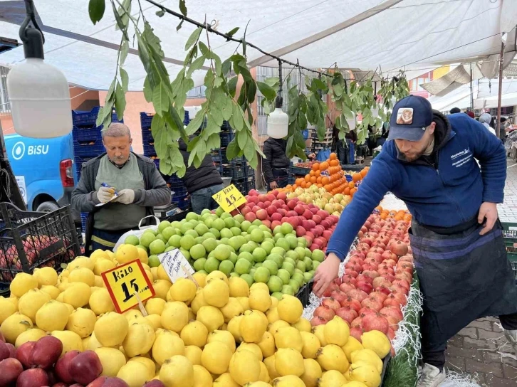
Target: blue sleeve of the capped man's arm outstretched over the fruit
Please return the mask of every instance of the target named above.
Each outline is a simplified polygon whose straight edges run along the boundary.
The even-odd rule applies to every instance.
[[[381,155],[373,161],[370,171],[357,189],[354,198],[341,213],[338,226],[328,243],[327,254],[334,253],[340,260],[345,259],[355,235],[365,224],[368,216],[379,205],[387,191],[395,186],[397,173],[396,168],[388,167],[388,163]]]

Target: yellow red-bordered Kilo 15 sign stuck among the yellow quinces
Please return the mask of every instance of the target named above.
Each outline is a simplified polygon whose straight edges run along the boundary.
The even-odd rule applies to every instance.
[[[155,295],[140,260],[132,260],[100,274],[118,313],[124,313]],[[135,293],[138,295],[136,297]]]

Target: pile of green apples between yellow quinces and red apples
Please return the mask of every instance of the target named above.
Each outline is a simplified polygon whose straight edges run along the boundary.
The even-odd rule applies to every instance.
[[[263,282],[278,298],[296,295],[324,258],[322,250],[310,251],[307,240],[296,237],[290,223],[271,230],[258,219],[249,222],[221,208],[188,213],[182,221],[162,221],[157,230],[147,229],[140,238],[130,235],[125,243],[145,249],[151,267],[160,265],[158,255],[177,248],[197,272],[219,270],[249,286]]]

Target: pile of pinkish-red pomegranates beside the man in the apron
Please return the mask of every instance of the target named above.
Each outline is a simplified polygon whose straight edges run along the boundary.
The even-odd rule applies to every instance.
[[[335,315],[350,325],[350,335],[377,330],[392,340],[402,320],[402,307],[413,280],[409,222],[370,216],[350,251],[345,273],[325,290],[315,309],[313,325],[326,324]]]

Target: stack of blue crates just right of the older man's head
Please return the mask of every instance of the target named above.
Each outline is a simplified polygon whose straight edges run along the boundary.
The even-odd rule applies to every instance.
[[[140,125],[142,127],[142,145],[144,148],[144,156],[150,157],[155,161],[157,169],[160,170],[160,159],[157,158],[156,150],[155,150],[155,139],[152,138],[151,132],[151,122],[152,122],[152,114],[140,112]],[[185,116],[183,120],[184,125],[188,125],[189,120],[189,112],[185,110]],[[162,175],[165,181],[167,182],[167,186],[174,192],[172,195],[172,203],[176,203],[179,208],[182,210],[187,210],[190,205],[190,199],[188,197],[187,189],[183,185],[182,179],[179,179],[178,176],[173,174],[172,176]]]

